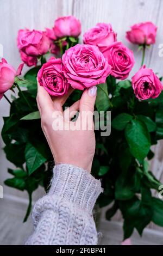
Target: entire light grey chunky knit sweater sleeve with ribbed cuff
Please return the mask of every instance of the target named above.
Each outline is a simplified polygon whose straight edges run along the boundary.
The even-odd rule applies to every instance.
[[[27,245],[96,245],[92,209],[101,182],[86,170],[57,164],[51,188],[33,209],[35,231]]]

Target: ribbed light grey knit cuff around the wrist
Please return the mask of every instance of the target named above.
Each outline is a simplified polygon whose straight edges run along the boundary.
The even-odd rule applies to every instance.
[[[71,164],[57,164],[53,172],[48,194],[63,198],[91,212],[102,192],[101,181],[96,180],[86,170]]]

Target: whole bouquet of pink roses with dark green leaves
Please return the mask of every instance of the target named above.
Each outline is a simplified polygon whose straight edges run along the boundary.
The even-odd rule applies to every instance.
[[[10,115],[4,118],[2,138],[7,159],[16,169],[5,184],[29,194],[41,185],[47,189],[52,176],[53,157],[43,136],[36,105],[37,81],[52,96],[62,96],[72,87],[66,106],[80,99],[85,88],[97,86],[96,111],[111,111],[111,135],[96,131],[96,153],[92,174],[102,180],[104,193],[100,207],[110,205],[106,219],[120,209],[124,218],[124,239],[139,234],[149,222],[163,226],[163,202],[152,196],[160,190],[160,181],[148,169],[154,157],[151,145],[163,139],[163,94],[161,78],[144,65],[147,46],[155,43],[152,22],[131,27],[126,38],[142,50],[140,70],[127,80],[134,66],[134,54],[122,42],[110,24],[97,23],[84,33],[78,44],[80,21],[73,16],[60,17],[46,31],[18,31],[17,46],[22,62],[33,66],[20,77],[5,59],[0,63],[0,96],[10,103]],[[50,57],[51,56],[51,57]],[[55,57],[54,57],[55,56]],[[22,90],[21,87],[25,87]],[[5,95],[18,89],[18,97]],[[106,121],[106,115],[104,115]]]

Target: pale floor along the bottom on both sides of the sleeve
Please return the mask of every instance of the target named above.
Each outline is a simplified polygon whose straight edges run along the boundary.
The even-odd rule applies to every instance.
[[[26,204],[10,199],[0,199],[0,245],[23,245],[32,233],[31,218],[22,223]],[[122,241],[122,223],[101,221],[99,223],[100,245],[120,245]],[[135,233],[131,237],[133,245],[163,245],[163,233],[146,229],[142,238]]]

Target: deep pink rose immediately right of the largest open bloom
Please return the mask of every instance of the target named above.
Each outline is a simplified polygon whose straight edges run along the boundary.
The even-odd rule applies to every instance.
[[[122,42],[114,42],[105,47],[103,54],[111,66],[111,75],[117,79],[126,79],[135,63],[133,52]]]

